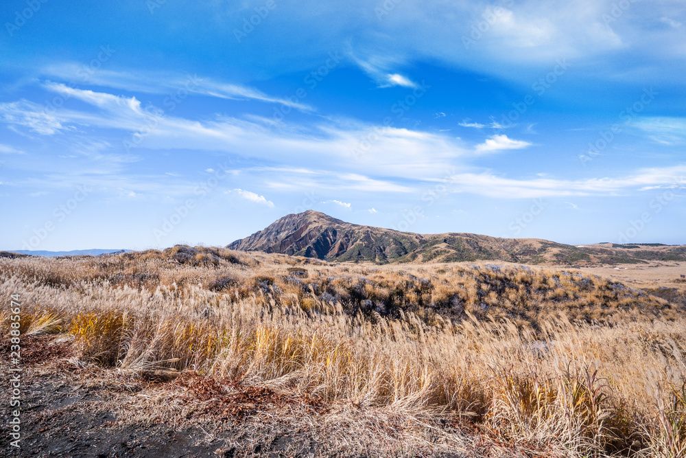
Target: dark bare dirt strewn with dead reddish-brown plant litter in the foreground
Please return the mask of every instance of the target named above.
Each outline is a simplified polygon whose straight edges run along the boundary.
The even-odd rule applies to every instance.
[[[23,342],[21,449],[7,457],[525,457],[450,417],[315,400],[184,372],[174,380],[79,365],[64,337]],[[3,374],[9,350],[0,347]],[[2,390],[9,390],[8,377]],[[542,453],[543,450],[534,450]]]

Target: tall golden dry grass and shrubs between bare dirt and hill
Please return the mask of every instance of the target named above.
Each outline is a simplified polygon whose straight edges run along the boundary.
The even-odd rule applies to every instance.
[[[601,277],[189,247],[0,267],[22,332],[69,333],[107,367],[460,417],[558,455],[686,450],[682,310]]]

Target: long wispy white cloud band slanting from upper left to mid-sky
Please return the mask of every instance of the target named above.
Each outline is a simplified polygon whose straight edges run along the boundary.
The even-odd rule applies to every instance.
[[[196,121],[169,113],[154,117],[150,127],[147,111],[156,113],[155,108],[143,110],[135,98],[71,89],[61,84],[47,87],[69,91],[71,97],[98,108],[60,111],[62,127],[71,128],[69,124],[73,124],[125,130],[130,136],[125,135],[123,140],[132,143],[134,135],[137,136],[135,148],[241,151],[250,157],[270,160],[274,151],[279,151],[281,157],[315,167],[321,164],[353,173],[373,170],[383,176],[418,179],[427,174],[438,175],[445,170],[447,161],[469,154],[461,141],[445,135],[372,126],[354,119],[318,118],[315,123],[283,123],[274,128],[234,117]],[[255,142],[255,138],[260,141]],[[396,190],[402,188],[397,186]]]

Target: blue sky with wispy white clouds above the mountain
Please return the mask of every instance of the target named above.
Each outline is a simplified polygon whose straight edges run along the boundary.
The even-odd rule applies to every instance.
[[[316,209],[686,244],[683,1],[3,1],[0,249]]]

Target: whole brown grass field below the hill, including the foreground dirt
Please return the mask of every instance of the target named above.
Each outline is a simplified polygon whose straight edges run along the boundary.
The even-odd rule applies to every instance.
[[[177,246],[0,269],[3,368],[21,303],[31,456],[686,456],[674,262]]]

